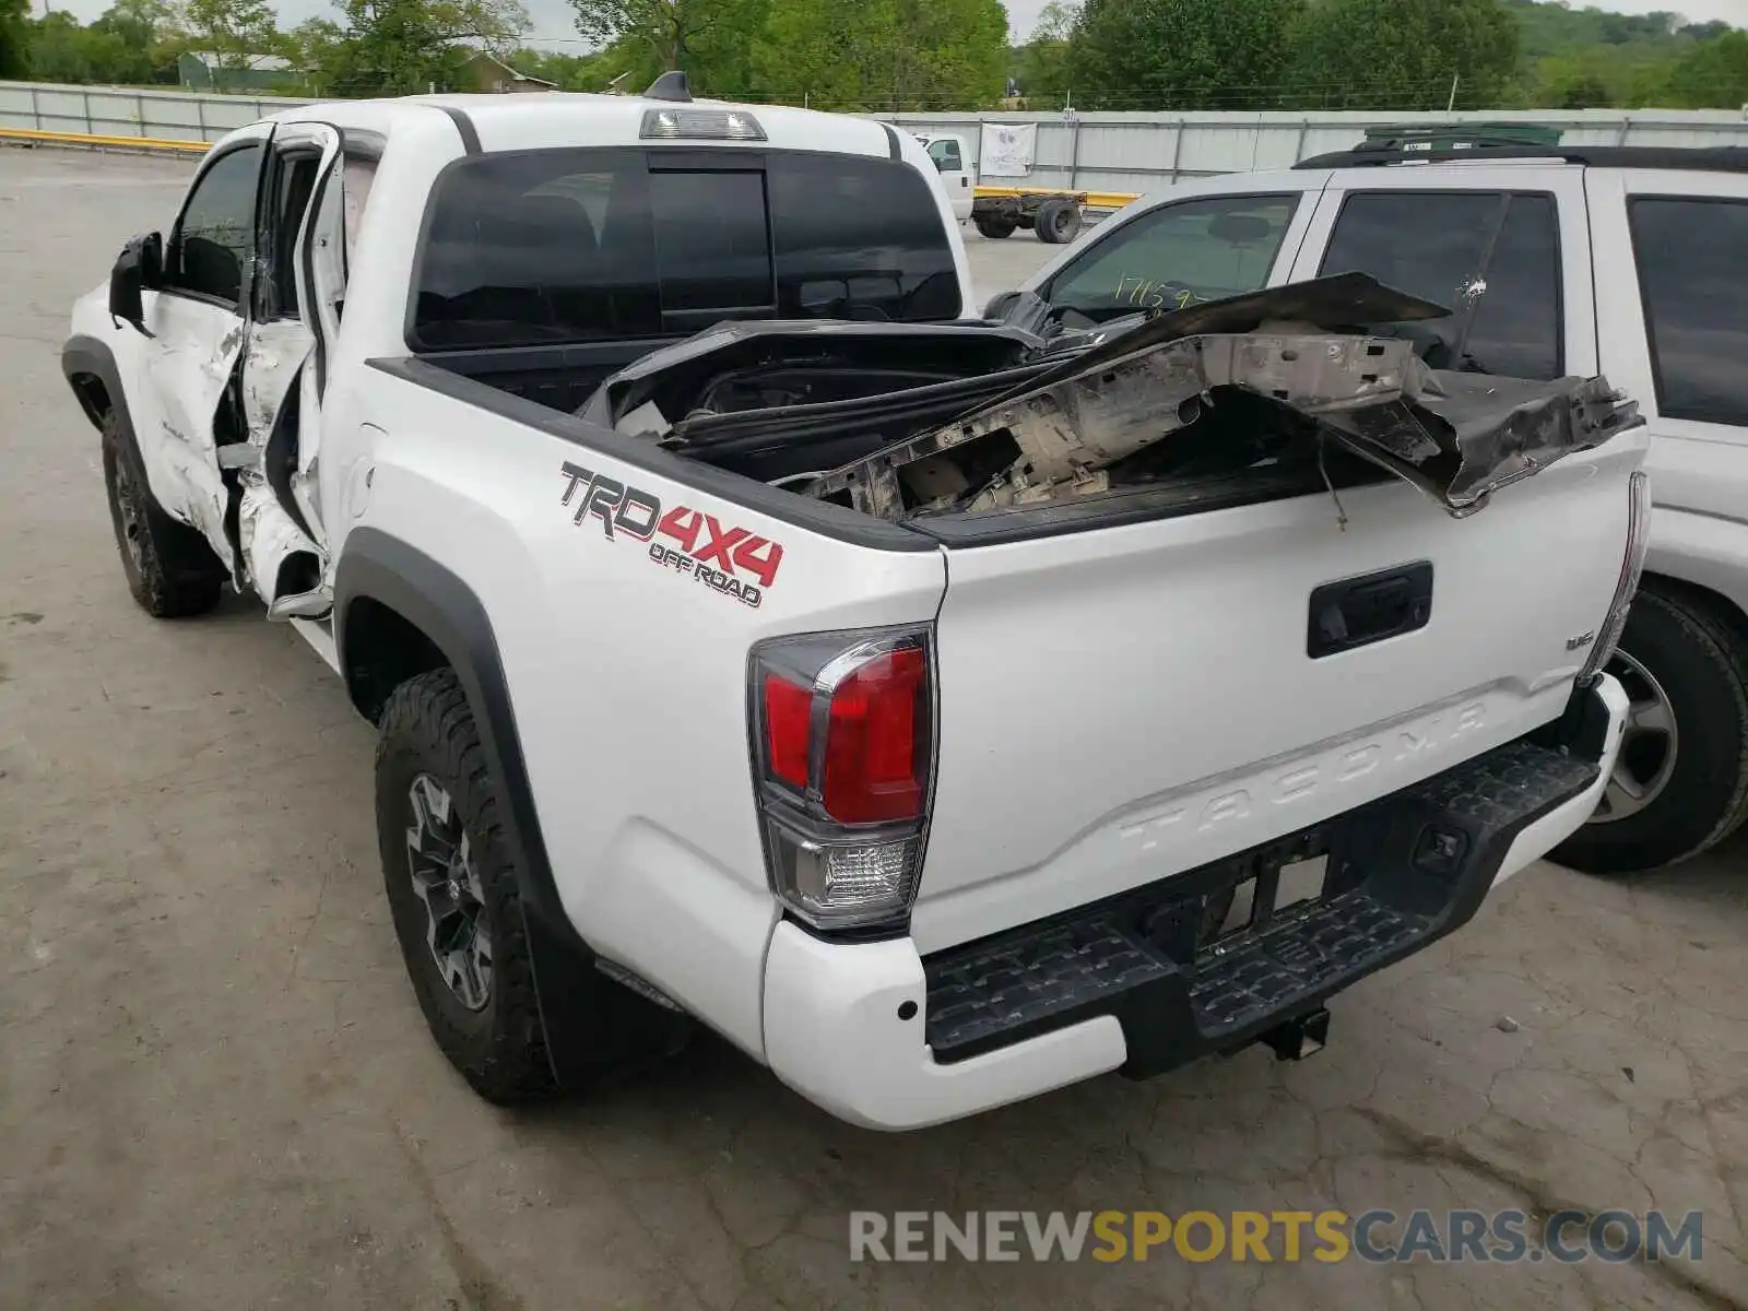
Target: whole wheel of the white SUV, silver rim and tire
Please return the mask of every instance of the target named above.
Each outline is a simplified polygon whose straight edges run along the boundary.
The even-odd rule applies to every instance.
[[[1631,708],[1601,804],[1552,858],[1592,874],[1659,869],[1748,815],[1748,643],[1704,603],[1650,584],[1608,662]]]

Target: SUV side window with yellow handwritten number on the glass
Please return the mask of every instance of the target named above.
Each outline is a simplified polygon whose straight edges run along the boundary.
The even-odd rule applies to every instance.
[[[1161,205],[1094,241],[1044,299],[1094,322],[1255,292],[1269,280],[1299,194]]]

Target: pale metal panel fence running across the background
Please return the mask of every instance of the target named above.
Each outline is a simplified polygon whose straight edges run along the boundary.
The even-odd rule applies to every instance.
[[[232,128],[308,101],[273,96],[122,91],[0,82],[0,128],[96,136],[212,142]],[[1038,124],[1031,173],[1005,185],[1145,192],[1187,177],[1288,168],[1344,150],[1367,128],[1412,122],[1526,122],[1564,129],[1568,145],[1743,145],[1748,115],[1715,110],[1573,110],[1470,114],[898,114],[911,131],[958,133],[975,159],[984,122]]]

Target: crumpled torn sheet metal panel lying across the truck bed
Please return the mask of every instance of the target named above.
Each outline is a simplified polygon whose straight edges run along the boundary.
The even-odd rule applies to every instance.
[[[1239,386],[1316,420],[1463,517],[1498,488],[1643,423],[1601,378],[1433,371],[1409,341],[1353,330],[1446,313],[1341,274],[1161,315],[944,428],[834,470],[811,493],[848,493],[867,514],[902,519],[1105,491],[1101,470],[1194,423],[1213,388]],[[946,456],[1002,432],[1021,456],[993,477],[967,479]],[[900,479],[918,509],[905,510]]]

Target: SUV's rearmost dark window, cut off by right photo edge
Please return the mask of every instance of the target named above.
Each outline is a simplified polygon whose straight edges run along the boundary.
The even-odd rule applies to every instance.
[[[1748,203],[1638,199],[1629,215],[1657,409],[1748,423]]]

